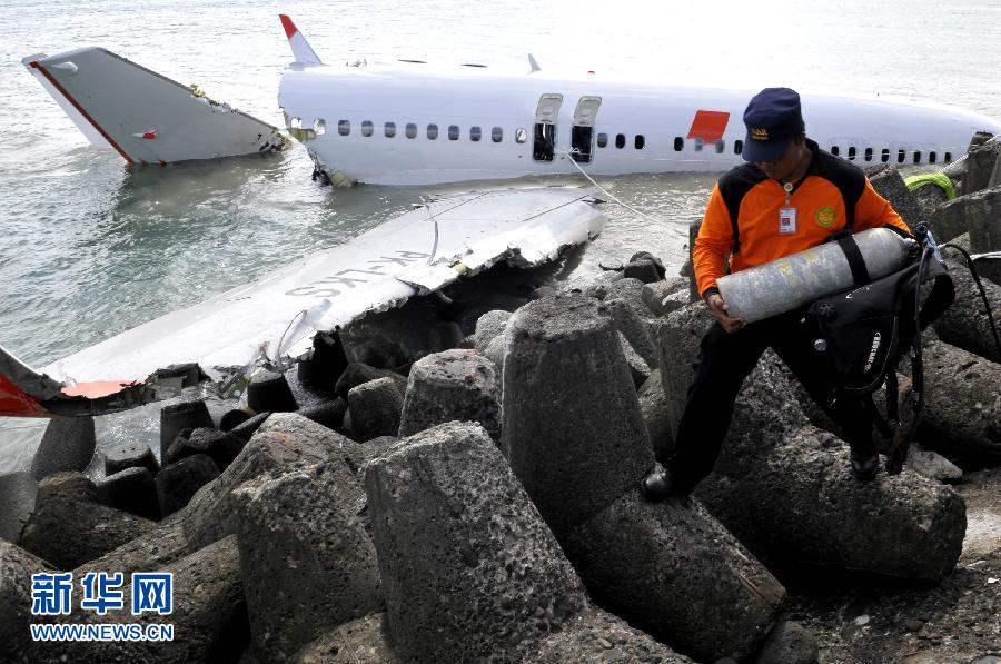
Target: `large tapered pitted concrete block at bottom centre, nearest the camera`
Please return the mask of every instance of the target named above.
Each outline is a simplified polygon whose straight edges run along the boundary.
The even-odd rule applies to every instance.
[[[519,661],[519,648],[586,606],[579,578],[482,427],[449,423],[407,438],[368,465],[365,488],[400,658]]]

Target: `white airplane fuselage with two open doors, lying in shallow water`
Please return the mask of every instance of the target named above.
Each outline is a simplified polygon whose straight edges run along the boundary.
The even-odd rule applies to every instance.
[[[754,93],[478,67],[295,62],[278,101],[293,136],[336,184],[432,185],[577,167],[593,176],[725,171],[742,162],[741,118]],[[807,136],[862,167],[944,165],[965,153],[974,132],[1001,133],[1001,121],[949,107],[814,95],[803,95],[802,107]]]

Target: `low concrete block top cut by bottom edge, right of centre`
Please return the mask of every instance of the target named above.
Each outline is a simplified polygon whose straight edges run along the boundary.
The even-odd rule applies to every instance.
[[[685,664],[678,655],[625,621],[589,608],[566,621],[557,632],[545,635],[525,664],[607,664],[609,662],[667,662]]]

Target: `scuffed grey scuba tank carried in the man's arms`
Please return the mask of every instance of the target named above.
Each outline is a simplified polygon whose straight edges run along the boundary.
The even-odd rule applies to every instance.
[[[864,230],[851,238],[871,279],[901,269],[919,248],[913,239],[886,228]],[[726,275],[716,279],[716,288],[732,318],[754,323],[850,288],[855,276],[842,245],[834,241]]]

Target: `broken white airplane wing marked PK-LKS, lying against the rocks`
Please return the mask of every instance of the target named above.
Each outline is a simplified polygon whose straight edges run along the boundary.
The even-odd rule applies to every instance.
[[[604,228],[601,201],[571,187],[442,196],[254,283],[168,314],[36,371],[0,348],[0,415],[100,415],[158,398],[161,369],[221,377],[248,360],[298,357],[316,330],[403,305],[499,260],[534,267]],[[52,378],[59,376],[60,380]]]

